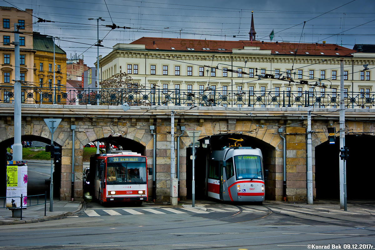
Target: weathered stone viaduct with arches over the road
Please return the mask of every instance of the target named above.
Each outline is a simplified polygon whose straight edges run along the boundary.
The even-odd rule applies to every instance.
[[[0,108],[0,150],[4,151],[4,148],[13,144],[14,109],[12,104],[0,104]],[[22,141],[42,141],[49,144],[51,133],[43,119],[62,118],[53,136],[54,144],[62,147],[61,166],[55,166],[55,175],[58,179],[54,178],[60,181],[55,184],[55,189],[62,200],[71,199],[73,160],[74,198],[82,199],[84,145],[94,141],[112,141],[115,145],[121,145],[124,150],[137,151],[147,156],[149,167],[152,167],[153,161],[156,160],[156,199],[169,201],[172,109],[175,112],[176,135],[181,133],[181,126],[185,126],[186,130],[201,130],[200,139],[212,135],[233,134],[246,139],[242,146],[261,148],[265,169],[269,170],[266,198],[270,200],[283,199],[284,144],[278,133],[278,128],[283,128],[282,135],[287,141],[286,198],[287,201],[306,201],[307,108],[226,109],[199,106],[189,109],[183,106],[135,106],[124,112],[120,106],[22,104]],[[371,150],[374,152],[375,109],[347,109],[346,118],[347,141],[351,144],[347,145],[353,152],[350,156],[355,159],[357,145],[365,141],[372,141],[370,149],[367,150],[369,154]],[[333,192],[335,188],[330,190],[331,187],[326,186],[326,182],[334,182],[331,180],[338,179],[339,176],[338,140],[335,150],[327,146],[327,127],[334,126],[338,131],[338,119],[339,112],[336,109],[312,108],[314,198],[320,193]],[[71,125],[76,126],[74,142]],[[156,126],[156,156],[153,156],[153,135],[150,125]],[[338,133],[336,135],[338,136]],[[188,178],[191,167],[187,150],[191,141],[186,133],[180,138],[180,199],[186,199],[189,193],[191,194],[191,179]],[[333,160],[329,161],[328,158]],[[347,162],[347,168],[351,167],[350,160]],[[353,168],[357,163],[353,160]],[[196,169],[199,167],[202,167],[202,164],[196,162]],[[318,178],[321,187],[318,187]],[[152,194],[152,176],[149,176],[148,188],[149,194]],[[196,190],[197,192],[199,191]]]

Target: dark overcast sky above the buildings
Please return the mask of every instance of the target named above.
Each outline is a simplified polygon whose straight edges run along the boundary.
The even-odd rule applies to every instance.
[[[374,43],[375,37],[374,0],[0,0],[0,5],[33,9],[35,16],[55,21],[35,24],[34,31],[60,37],[58,45],[68,58],[83,54],[88,66],[96,61],[97,49],[91,45],[97,40],[97,22],[87,18],[105,19],[99,21],[99,39],[108,48],[100,48],[101,55],[116,43],[143,36],[249,40],[251,10],[257,40],[269,41],[272,29],[273,42],[324,40],[347,48]],[[112,23],[131,29],[101,26]]]

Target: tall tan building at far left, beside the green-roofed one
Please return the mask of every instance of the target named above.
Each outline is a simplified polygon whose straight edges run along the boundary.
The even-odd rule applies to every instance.
[[[15,54],[14,54],[14,25],[19,24],[20,29],[20,80],[26,82],[34,81],[33,74],[33,10],[19,10],[13,7],[0,6],[1,30],[0,30],[0,100],[1,102],[12,102],[15,79]],[[27,84],[26,84],[27,85]],[[25,84],[21,84],[24,88]],[[22,91],[22,101],[25,102],[27,93]]]

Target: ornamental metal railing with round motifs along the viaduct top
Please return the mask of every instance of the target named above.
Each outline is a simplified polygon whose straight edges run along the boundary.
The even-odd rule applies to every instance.
[[[225,107],[308,107],[337,108],[339,91],[230,91],[230,90],[180,90],[180,89],[100,89],[87,88],[40,88],[22,87],[21,101],[37,104],[64,105],[183,105],[183,106],[225,106]],[[13,86],[1,86],[0,103],[13,102]],[[371,108],[375,106],[375,93],[345,92],[345,106],[348,108]]]

